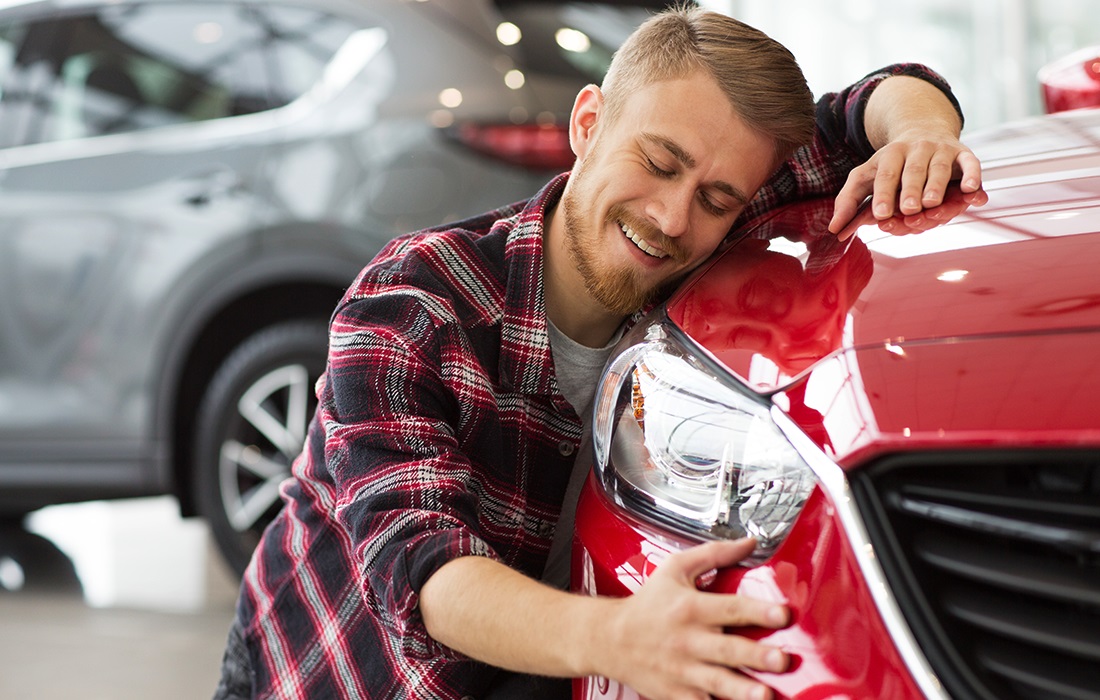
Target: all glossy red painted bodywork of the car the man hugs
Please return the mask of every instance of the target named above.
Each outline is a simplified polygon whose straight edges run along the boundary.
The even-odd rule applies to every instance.
[[[683,285],[669,319],[849,471],[890,452],[1100,449],[1098,136],[1100,110],[974,136],[990,203],[916,236],[864,226],[840,243],[825,231],[831,201],[785,209],[756,233],[789,242],[730,245]],[[573,587],[627,595],[692,544],[590,479]],[[799,658],[761,676],[780,697],[922,697],[824,492],[768,562],[711,588],[791,605],[787,630],[739,631]],[[574,689],[637,698],[606,680]]]

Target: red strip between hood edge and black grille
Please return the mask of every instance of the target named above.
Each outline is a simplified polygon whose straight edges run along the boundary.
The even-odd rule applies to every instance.
[[[842,466],[955,446],[1097,445],[1098,347],[1092,330],[867,348],[774,398]]]

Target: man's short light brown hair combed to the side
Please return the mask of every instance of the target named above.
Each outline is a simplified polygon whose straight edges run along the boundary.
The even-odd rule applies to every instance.
[[[776,165],[814,134],[814,100],[790,51],[763,32],[725,14],[676,7],[649,18],[612,59],[602,91],[606,117],[624,100],[660,80],[704,69],[737,114],[776,143]]]

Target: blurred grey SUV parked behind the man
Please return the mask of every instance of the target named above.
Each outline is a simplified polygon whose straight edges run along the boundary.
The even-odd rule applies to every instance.
[[[0,510],[172,493],[245,565],[396,233],[532,195],[660,2],[0,11]]]

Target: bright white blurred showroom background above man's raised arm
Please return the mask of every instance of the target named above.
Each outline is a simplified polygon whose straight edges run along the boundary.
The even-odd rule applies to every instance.
[[[967,130],[1043,111],[1036,74],[1100,44],[1088,0],[725,0],[716,8],[787,45],[815,95],[878,66],[924,63],[952,84]]]

